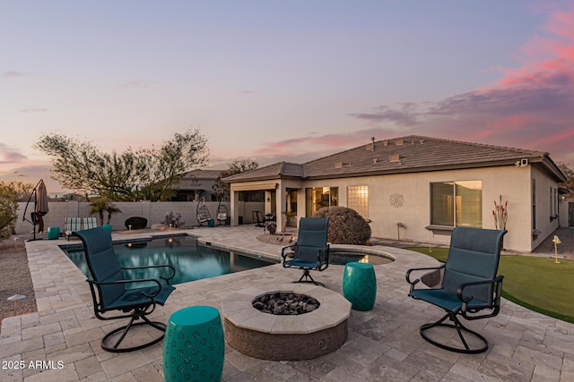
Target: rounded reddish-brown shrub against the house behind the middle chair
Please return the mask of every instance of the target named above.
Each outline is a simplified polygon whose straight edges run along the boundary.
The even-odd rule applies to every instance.
[[[370,225],[357,211],[346,207],[324,207],[313,217],[328,217],[327,241],[333,244],[363,245],[370,239]]]

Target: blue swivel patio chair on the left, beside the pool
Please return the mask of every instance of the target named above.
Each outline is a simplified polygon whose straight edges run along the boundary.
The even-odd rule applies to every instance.
[[[170,279],[175,276],[175,268],[170,265],[149,267],[121,267],[114,251],[109,231],[103,227],[74,232],[83,242],[83,250],[90,269],[91,278],[86,281],[90,284],[93,310],[96,318],[102,320],[129,318],[124,327],[118,327],[105,335],[101,340],[101,348],[107,352],[131,352],[152,344],[159,343],[165,335],[166,325],[161,322],[151,321],[148,316],[155,310],[156,305],[161,305],[175,290],[170,285]],[[143,269],[157,268],[159,274],[168,273],[168,276],[158,278],[129,278],[124,272],[141,272]],[[135,273],[135,272],[134,272]],[[135,273],[134,276],[137,276]],[[129,285],[128,285],[129,284]],[[133,289],[127,289],[130,285],[138,285]],[[121,310],[116,316],[102,316],[109,311]],[[143,322],[136,322],[142,319]],[[144,344],[134,344],[134,338],[129,338],[129,347],[120,347],[130,328],[150,325],[161,331],[161,335]],[[144,332],[144,337],[149,339],[152,335],[149,330]],[[112,338],[120,334],[118,338]],[[134,337],[134,335],[132,335]],[[112,344],[109,344],[112,343]]]

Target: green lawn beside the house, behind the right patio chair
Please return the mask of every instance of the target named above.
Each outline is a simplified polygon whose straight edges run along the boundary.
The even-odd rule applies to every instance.
[[[408,248],[445,262],[448,248]],[[504,275],[502,296],[546,316],[574,323],[574,261],[503,255],[499,275]]]

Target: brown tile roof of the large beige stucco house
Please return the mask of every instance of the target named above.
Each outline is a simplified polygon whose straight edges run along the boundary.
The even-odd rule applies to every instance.
[[[509,166],[517,160],[552,164],[548,153],[527,149],[418,135],[378,140],[354,149],[321,157],[302,165],[280,162],[225,178],[226,182],[248,182],[280,177],[324,179],[374,174],[400,174],[483,166]]]

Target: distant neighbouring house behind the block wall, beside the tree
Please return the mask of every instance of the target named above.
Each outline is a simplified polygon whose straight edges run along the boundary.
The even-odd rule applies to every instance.
[[[222,174],[222,170],[196,169],[182,174],[174,185],[176,195],[170,201],[215,201],[213,183]]]

